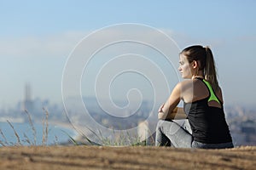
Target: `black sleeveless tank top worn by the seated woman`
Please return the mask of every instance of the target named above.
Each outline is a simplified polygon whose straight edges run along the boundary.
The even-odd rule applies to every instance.
[[[183,106],[185,113],[188,115],[192,135],[195,141],[204,144],[232,142],[230,129],[225,121],[223,104],[220,102],[221,108],[208,106],[208,99],[212,95],[212,87],[209,87],[206,82],[204,83],[209,90],[209,96],[206,99],[200,99],[192,103],[184,102]],[[214,95],[216,96],[216,94]]]

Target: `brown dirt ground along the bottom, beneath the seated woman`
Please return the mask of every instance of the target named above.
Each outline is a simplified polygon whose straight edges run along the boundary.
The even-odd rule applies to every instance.
[[[256,146],[229,150],[166,147],[19,146],[0,148],[0,169],[255,169]]]

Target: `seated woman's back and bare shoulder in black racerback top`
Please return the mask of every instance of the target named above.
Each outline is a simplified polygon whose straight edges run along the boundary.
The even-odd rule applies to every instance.
[[[225,122],[222,100],[219,99],[221,95],[217,96],[212,86],[201,78],[184,84],[187,88],[183,98],[184,111],[195,140],[207,144],[230,142],[229,127]],[[221,94],[220,90],[218,94]]]

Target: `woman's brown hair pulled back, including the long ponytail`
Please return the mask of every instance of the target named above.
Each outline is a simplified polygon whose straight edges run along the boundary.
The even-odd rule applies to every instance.
[[[202,47],[201,45],[190,46],[184,48],[181,54],[184,54],[189,63],[193,60],[199,62],[199,70],[203,70],[205,79],[210,82],[214,91],[218,91],[217,71],[213,59],[212,50],[209,47]]]

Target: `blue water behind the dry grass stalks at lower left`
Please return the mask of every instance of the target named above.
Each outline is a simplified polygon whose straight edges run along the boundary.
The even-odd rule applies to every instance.
[[[15,135],[15,132],[18,134],[20,143],[22,145],[31,145],[31,144],[37,144],[41,145],[43,144],[43,136],[44,135],[44,126],[43,124],[33,124],[36,130],[36,135],[34,135],[34,132],[32,130],[32,126],[30,126],[28,123],[18,123],[18,122],[11,122],[11,124],[14,126],[14,129],[9,125],[8,122],[0,122],[0,129],[3,132],[3,134],[0,134],[0,146],[4,145],[15,145],[19,144],[18,139]],[[55,126],[49,124],[48,126],[48,139],[47,142],[44,144],[63,144],[70,139],[70,137],[74,137],[76,135],[74,129],[67,128],[67,127],[61,127],[61,126]],[[27,136],[27,138],[26,138]],[[34,137],[36,136],[36,142],[34,140]],[[29,142],[31,144],[29,144]]]

